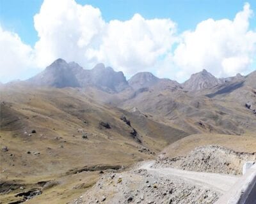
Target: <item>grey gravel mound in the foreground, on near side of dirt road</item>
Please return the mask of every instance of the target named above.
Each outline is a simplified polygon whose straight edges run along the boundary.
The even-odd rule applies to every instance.
[[[147,170],[108,173],[72,204],[81,203],[214,203],[220,193],[175,177],[161,177]]]

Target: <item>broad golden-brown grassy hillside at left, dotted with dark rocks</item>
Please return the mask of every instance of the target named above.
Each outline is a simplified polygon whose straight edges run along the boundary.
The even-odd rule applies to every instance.
[[[21,199],[14,197],[20,187],[41,189],[41,197],[51,195],[52,202],[70,200],[100,170],[151,159],[188,135],[143,113],[99,105],[74,88],[9,85],[1,89],[1,99],[1,192],[9,192],[3,196],[6,202]],[[40,187],[51,182],[73,197]]]

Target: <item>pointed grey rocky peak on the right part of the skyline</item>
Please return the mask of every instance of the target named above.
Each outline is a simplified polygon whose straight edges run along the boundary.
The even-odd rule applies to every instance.
[[[184,89],[188,91],[199,91],[200,89],[211,88],[218,84],[221,84],[221,80],[203,69],[203,71],[191,75],[189,80],[184,82]]]

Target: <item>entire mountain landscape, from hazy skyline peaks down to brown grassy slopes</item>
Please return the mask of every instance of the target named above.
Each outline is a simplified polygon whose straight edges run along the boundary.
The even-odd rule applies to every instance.
[[[57,59],[0,92],[3,203],[20,203],[20,191],[42,193],[28,203],[68,203],[102,172],[154,159],[168,145],[176,156],[200,144],[256,147],[256,71],[216,78],[204,69],[179,84]]]

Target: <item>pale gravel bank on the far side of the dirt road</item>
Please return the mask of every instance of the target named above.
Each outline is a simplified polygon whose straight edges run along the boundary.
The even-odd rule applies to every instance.
[[[256,154],[209,145],[197,147],[184,157],[163,158],[159,156],[152,167],[241,175],[243,164],[246,161],[256,161]]]

